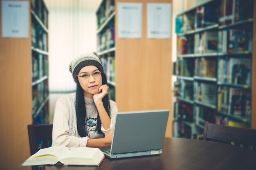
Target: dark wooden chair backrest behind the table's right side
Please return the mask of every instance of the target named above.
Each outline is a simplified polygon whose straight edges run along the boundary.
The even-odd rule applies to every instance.
[[[223,126],[204,123],[203,140],[231,144],[235,146],[243,145],[243,148],[248,148],[256,151],[256,130],[247,128],[237,128],[231,126]]]

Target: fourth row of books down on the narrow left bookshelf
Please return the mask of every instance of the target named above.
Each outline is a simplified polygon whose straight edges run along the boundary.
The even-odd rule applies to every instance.
[[[46,98],[49,96],[48,84],[40,82],[33,86],[32,89],[32,113],[36,114],[38,109],[43,105]]]

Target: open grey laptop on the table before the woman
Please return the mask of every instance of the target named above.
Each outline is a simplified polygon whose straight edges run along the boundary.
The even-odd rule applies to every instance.
[[[117,113],[110,149],[101,150],[110,158],[162,153],[169,110]]]

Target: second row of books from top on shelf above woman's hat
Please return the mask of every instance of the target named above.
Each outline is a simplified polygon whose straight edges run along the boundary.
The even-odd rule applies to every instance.
[[[115,26],[106,28],[105,32],[97,35],[97,51],[115,47]]]

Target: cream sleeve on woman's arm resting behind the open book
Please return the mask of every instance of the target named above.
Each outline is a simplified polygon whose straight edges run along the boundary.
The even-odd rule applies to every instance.
[[[56,102],[52,129],[52,146],[62,145],[69,149],[86,147],[89,137],[68,135],[69,106],[64,98],[59,98]]]

